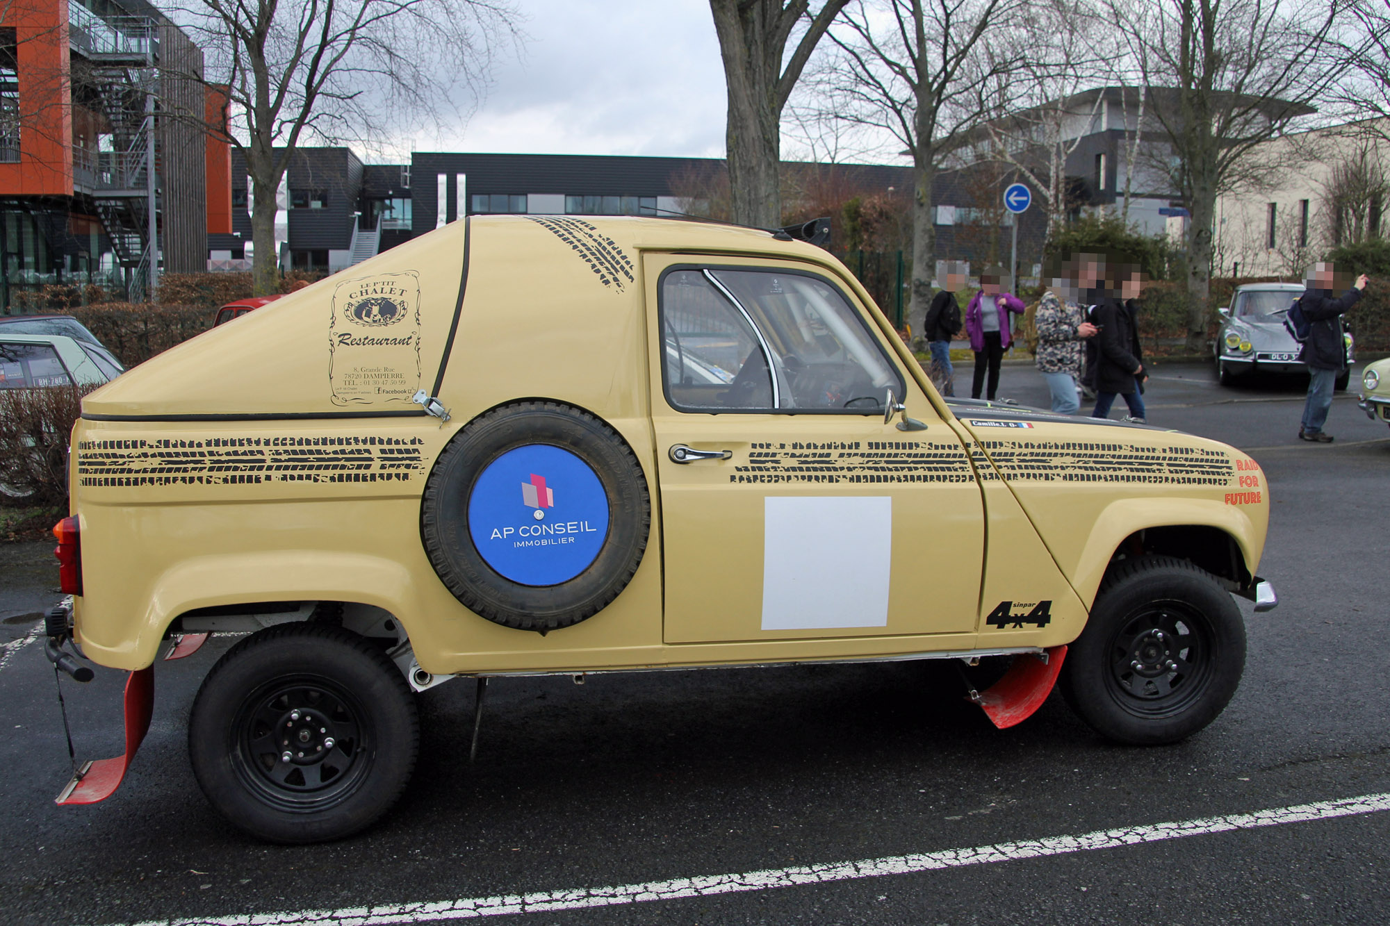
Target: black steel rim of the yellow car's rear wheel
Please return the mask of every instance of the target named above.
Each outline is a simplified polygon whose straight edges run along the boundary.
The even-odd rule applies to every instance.
[[[232,767],[264,804],[317,812],[352,797],[371,769],[361,702],[318,676],[275,679],[249,694],[231,727]]]

